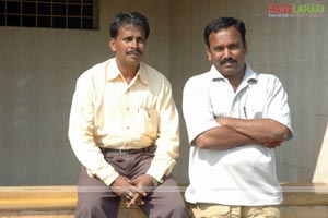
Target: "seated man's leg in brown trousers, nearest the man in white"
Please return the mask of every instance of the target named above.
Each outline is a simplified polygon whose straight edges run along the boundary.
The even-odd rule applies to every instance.
[[[140,208],[149,218],[190,217],[177,183],[172,177],[165,178],[165,181],[144,198],[144,203]]]

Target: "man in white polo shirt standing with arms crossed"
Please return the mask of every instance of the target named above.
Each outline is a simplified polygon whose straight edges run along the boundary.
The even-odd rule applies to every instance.
[[[280,217],[273,148],[292,136],[288,96],[274,75],[245,63],[245,24],[204,28],[212,68],[184,88],[190,154],[185,196],[195,217]]]

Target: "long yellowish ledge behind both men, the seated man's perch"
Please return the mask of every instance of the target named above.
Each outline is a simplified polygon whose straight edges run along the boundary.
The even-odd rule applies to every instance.
[[[282,183],[282,208],[328,207],[328,184]],[[0,211],[73,211],[77,186],[2,186]],[[127,209],[121,204],[121,209]],[[129,208],[131,209],[137,209]],[[288,209],[286,209],[288,210]]]

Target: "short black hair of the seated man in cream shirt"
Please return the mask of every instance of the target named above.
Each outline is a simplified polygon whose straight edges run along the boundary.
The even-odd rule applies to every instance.
[[[127,24],[141,26],[144,29],[145,39],[148,39],[148,36],[150,34],[150,27],[147,17],[138,12],[118,13],[109,25],[110,37],[116,38],[118,34],[118,28]]]

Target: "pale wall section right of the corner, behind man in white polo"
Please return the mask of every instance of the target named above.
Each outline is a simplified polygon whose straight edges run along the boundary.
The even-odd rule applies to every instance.
[[[324,17],[269,17],[269,3],[324,3]],[[281,181],[312,182],[316,168],[327,174],[327,152],[317,165],[328,121],[328,2],[263,0],[179,0],[171,4],[171,80],[176,99],[192,75],[208,71],[202,32],[218,16],[242,19],[247,28],[247,62],[282,81],[292,110],[294,138],[277,149]],[[180,107],[180,101],[178,101]],[[197,104],[197,102],[195,102]],[[183,124],[183,145],[187,134]],[[183,148],[187,149],[187,148]],[[325,164],[324,164],[325,162]],[[186,162],[180,165],[187,166]],[[185,171],[187,173],[187,171]],[[328,182],[326,179],[317,181]]]

